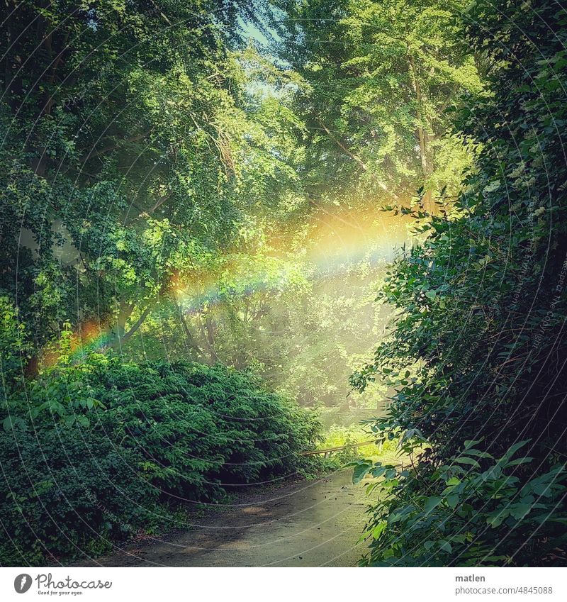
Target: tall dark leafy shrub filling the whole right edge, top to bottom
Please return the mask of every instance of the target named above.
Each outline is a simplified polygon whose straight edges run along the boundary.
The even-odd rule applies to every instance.
[[[546,523],[567,513],[567,11],[478,0],[465,22],[490,87],[460,116],[480,143],[476,169],[436,215],[408,211],[427,239],[388,274],[395,322],[352,378],[361,390],[378,379],[397,391],[373,430],[401,436],[415,461],[388,469],[395,499],[371,515],[370,564],[449,562],[455,549],[456,564],[551,562],[551,542],[563,549],[553,562],[567,562],[567,537]],[[449,468],[479,439],[479,472]],[[493,481],[490,458],[523,440],[533,462]],[[463,491],[437,503],[451,479]],[[537,479],[549,489],[527,494]],[[495,525],[501,503],[508,513]]]

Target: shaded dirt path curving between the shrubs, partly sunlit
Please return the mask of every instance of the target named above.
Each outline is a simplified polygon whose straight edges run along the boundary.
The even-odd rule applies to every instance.
[[[249,495],[193,530],[103,557],[105,567],[354,567],[368,498],[350,470]]]

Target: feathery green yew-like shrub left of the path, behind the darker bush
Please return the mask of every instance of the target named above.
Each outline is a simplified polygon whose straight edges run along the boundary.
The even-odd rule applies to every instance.
[[[292,474],[317,420],[252,377],[225,367],[120,364],[96,369],[106,436],[145,457],[164,493],[214,498],[230,485]]]

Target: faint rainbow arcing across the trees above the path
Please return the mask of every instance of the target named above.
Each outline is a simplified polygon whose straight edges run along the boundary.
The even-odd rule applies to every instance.
[[[304,276],[310,282],[336,279],[354,267],[366,264],[376,267],[391,262],[397,249],[410,242],[409,220],[374,207],[359,209],[324,209],[316,213],[305,227],[307,236],[300,261]],[[186,315],[203,308],[223,303],[228,296],[252,296],[260,291],[274,294],[286,288],[292,276],[300,272],[294,268],[297,255],[293,251],[297,235],[274,233],[264,241],[259,252],[264,262],[271,261],[271,275],[254,269],[254,255],[235,254],[223,264],[224,273],[230,273],[234,286],[221,289],[214,274],[191,274],[187,282],[183,274],[173,274],[166,287],[174,295]],[[294,272],[295,269],[295,272]],[[80,362],[89,353],[104,350],[116,341],[112,323],[94,320],[80,325],[71,341],[70,359]],[[57,363],[57,352],[46,352],[43,364]]]

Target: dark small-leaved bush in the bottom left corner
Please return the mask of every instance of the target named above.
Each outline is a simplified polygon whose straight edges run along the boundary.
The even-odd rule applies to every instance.
[[[155,522],[157,490],[139,458],[77,427],[0,432],[0,564],[100,554]]]

